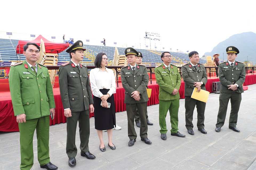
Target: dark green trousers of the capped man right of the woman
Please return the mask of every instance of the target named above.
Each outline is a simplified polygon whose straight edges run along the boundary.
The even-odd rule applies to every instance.
[[[146,120],[147,102],[126,104],[126,112],[127,112],[127,120],[128,120],[128,137],[129,139],[137,138],[137,134],[134,128],[134,115],[136,112],[136,107],[138,108],[139,117],[141,120],[139,136],[141,137],[141,139],[144,139],[144,138],[147,138],[147,120]]]

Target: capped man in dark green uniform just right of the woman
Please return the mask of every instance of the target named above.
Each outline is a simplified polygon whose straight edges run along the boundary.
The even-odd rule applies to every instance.
[[[136,142],[137,134],[134,129],[134,115],[136,107],[139,111],[141,120],[140,137],[146,144],[151,144],[147,138],[147,84],[149,83],[149,76],[147,68],[143,65],[136,64],[138,52],[133,48],[125,49],[125,56],[129,63],[128,66],[121,69],[121,80],[123,88],[125,89],[125,104],[128,120],[128,137],[130,139],[128,146],[133,146]]]

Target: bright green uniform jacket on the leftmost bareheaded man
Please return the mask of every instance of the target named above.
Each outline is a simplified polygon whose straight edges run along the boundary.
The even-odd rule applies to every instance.
[[[10,68],[9,86],[14,115],[26,114],[26,120],[50,115],[55,108],[48,69],[37,64],[37,75],[26,60]]]

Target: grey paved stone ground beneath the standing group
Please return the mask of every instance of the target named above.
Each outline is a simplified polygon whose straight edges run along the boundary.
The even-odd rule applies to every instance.
[[[99,139],[94,129],[94,118],[90,120],[90,152],[96,159],[89,160],[77,155],[77,165],[68,166],[66,155],[66,124],[50,126],[50,158],[51,162],[65,169],[193,169],[193,170],[243,170],[255,169],[256,158],[256,84],[250,85],[249,90],[242,94],[242,103],[238,116],[237,128],[240,133],[228,128],[229,114],[227,114],[221,132],[215,132],[215,124],[219,108],[219,94],[211,93],[205,110],[205,129],[207,134],[197,130],[197,113],[194,112],[194,133],[189,135],[185,128],[185,99],[180,100],[179,132],[185,138],[179,138],[167,133],[167,140],[160,138],[158,107],[147,107],[149,120],[154,123],[149,126],[148,138],[152,145],[147,145],[139,138],[139,128],[135,126],[138,134],[137,141],[132,147],[128,146],[127,116],[126,112],[116,113],[116,121],[121,130],[113,130],[113,143],[116,150],[107,146],[107,132],[103,132],[106,152],[99,150]],[[228,113],[230,112],[230,105]],[[171,129],[170,116],[166,117],[167,129]],[[76,145],[79,149],[79,129],[76,133]],[[34,165],[33,170],[41,169],[37,161],[37,139],[34,136]],[[0,169],[19,169],[20,146],[19,132],[0,132]],[[250,167],[251,165],[251,167]]]

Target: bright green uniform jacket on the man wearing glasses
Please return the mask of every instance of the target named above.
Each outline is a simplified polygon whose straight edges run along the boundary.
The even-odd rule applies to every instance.
[[[171,93],[176,88],[179,90],[181,86],[181,75],[175,65],[170,64],[170,71],[165,68],[165,65],[159,65],[155,68],[155,79],[159,85],[159,100],[174,100],[179,99],[177,95]]]

